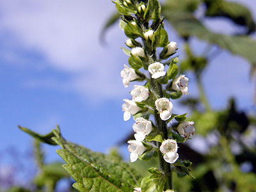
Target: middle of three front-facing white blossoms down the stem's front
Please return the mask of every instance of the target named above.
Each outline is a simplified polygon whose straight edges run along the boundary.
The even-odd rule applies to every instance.
[[[155,105],[157,111],[160,113],[161,120],[168,120],[172,116],[173,104],[169,99],[157,99]]]

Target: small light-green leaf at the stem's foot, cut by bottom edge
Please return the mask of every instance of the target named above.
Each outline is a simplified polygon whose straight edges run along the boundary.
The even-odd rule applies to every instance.
[[[141,181],[141,192],[163,192],[166,177],[161,174],[156,178],[156,174],[145,177]]]

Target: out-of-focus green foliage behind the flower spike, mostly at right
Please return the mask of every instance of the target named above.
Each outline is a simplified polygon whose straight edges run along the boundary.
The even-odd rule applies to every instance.
[[[208,63],[214,59],[214,56],[209,54],[212,45],[218,45],[232,54],[242,56],[251,63],[252,72],[255,70],[256,41],[250,35],[256,31],[256,25],[252,14],[242,4],[224,0],[166,0],[161,6],[164,21],[171,24],[184,40],[186,55],[179,58],[180,73],[192,72],[199,94],[198,98],[189,97],[181,103],[191,109],[188,120],[195,122],[196,136],[204,141],[199,145],[205,145],[207,149],[204,154],[200,154],[189,147],[189,142],[186,145],[179,143],[180,159],[189,159],[193,163],[191,173],[196,179],[180,179],[177,174],[173,174],[175,189],[198,192],[256,191],[256,140],[253,136],[256,129],[255,113],[237,109],[234,98],[229,100],[227,108],[213,110],[205,95],[201,78]],[[204,11],[198,19],[195,12],[200,7],[204,7]],[[204,25],[205,19],[208,18],[229,20],[240,26],[240,29],[243,28],[243,32],[237,31],[232,35],[215,33]],[[113,15],[103,33],[118,19],[118,14]],[[192,51],[195,49],[190,45],[193,36],[209,44],[201,55]],[[132,134],[127,137],[128,140],[133,137]],[[141,175],[147,176],[148,172],[145,170],[157,166],[157,161],[136,161],[131,165]]]

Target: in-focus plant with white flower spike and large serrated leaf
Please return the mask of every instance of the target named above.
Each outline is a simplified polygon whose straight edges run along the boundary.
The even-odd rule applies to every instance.
[[[65,140],[59,127],[47,135],[40,135],[20,127],[36,139],[60,145],[57,150],[67,163],[63,167],[76,182],[78,191],[174,191],[172,174],[178,177],[191,175],[191,162],[179,159],[179,143],[184,143],[195,132],[194,122],[186,115],[174,114],[172,100],[189,95],[188,77],[179,74],[177,50],[168,39],[157,0],[116,0],[116,9],[122,15],[120,28],[127,40],[123,51],[128,65],[120,72],[124,87],[138,82],[131,90],[131,99],[124,99],[124,120],[134,119],[134,140],[128,141],[130,161],[147,161],[157,158],[158,168],[149,168],[147,177],[131,168],[115,154],[92,152]],[[194,178],[194,177],[193,177]]]

